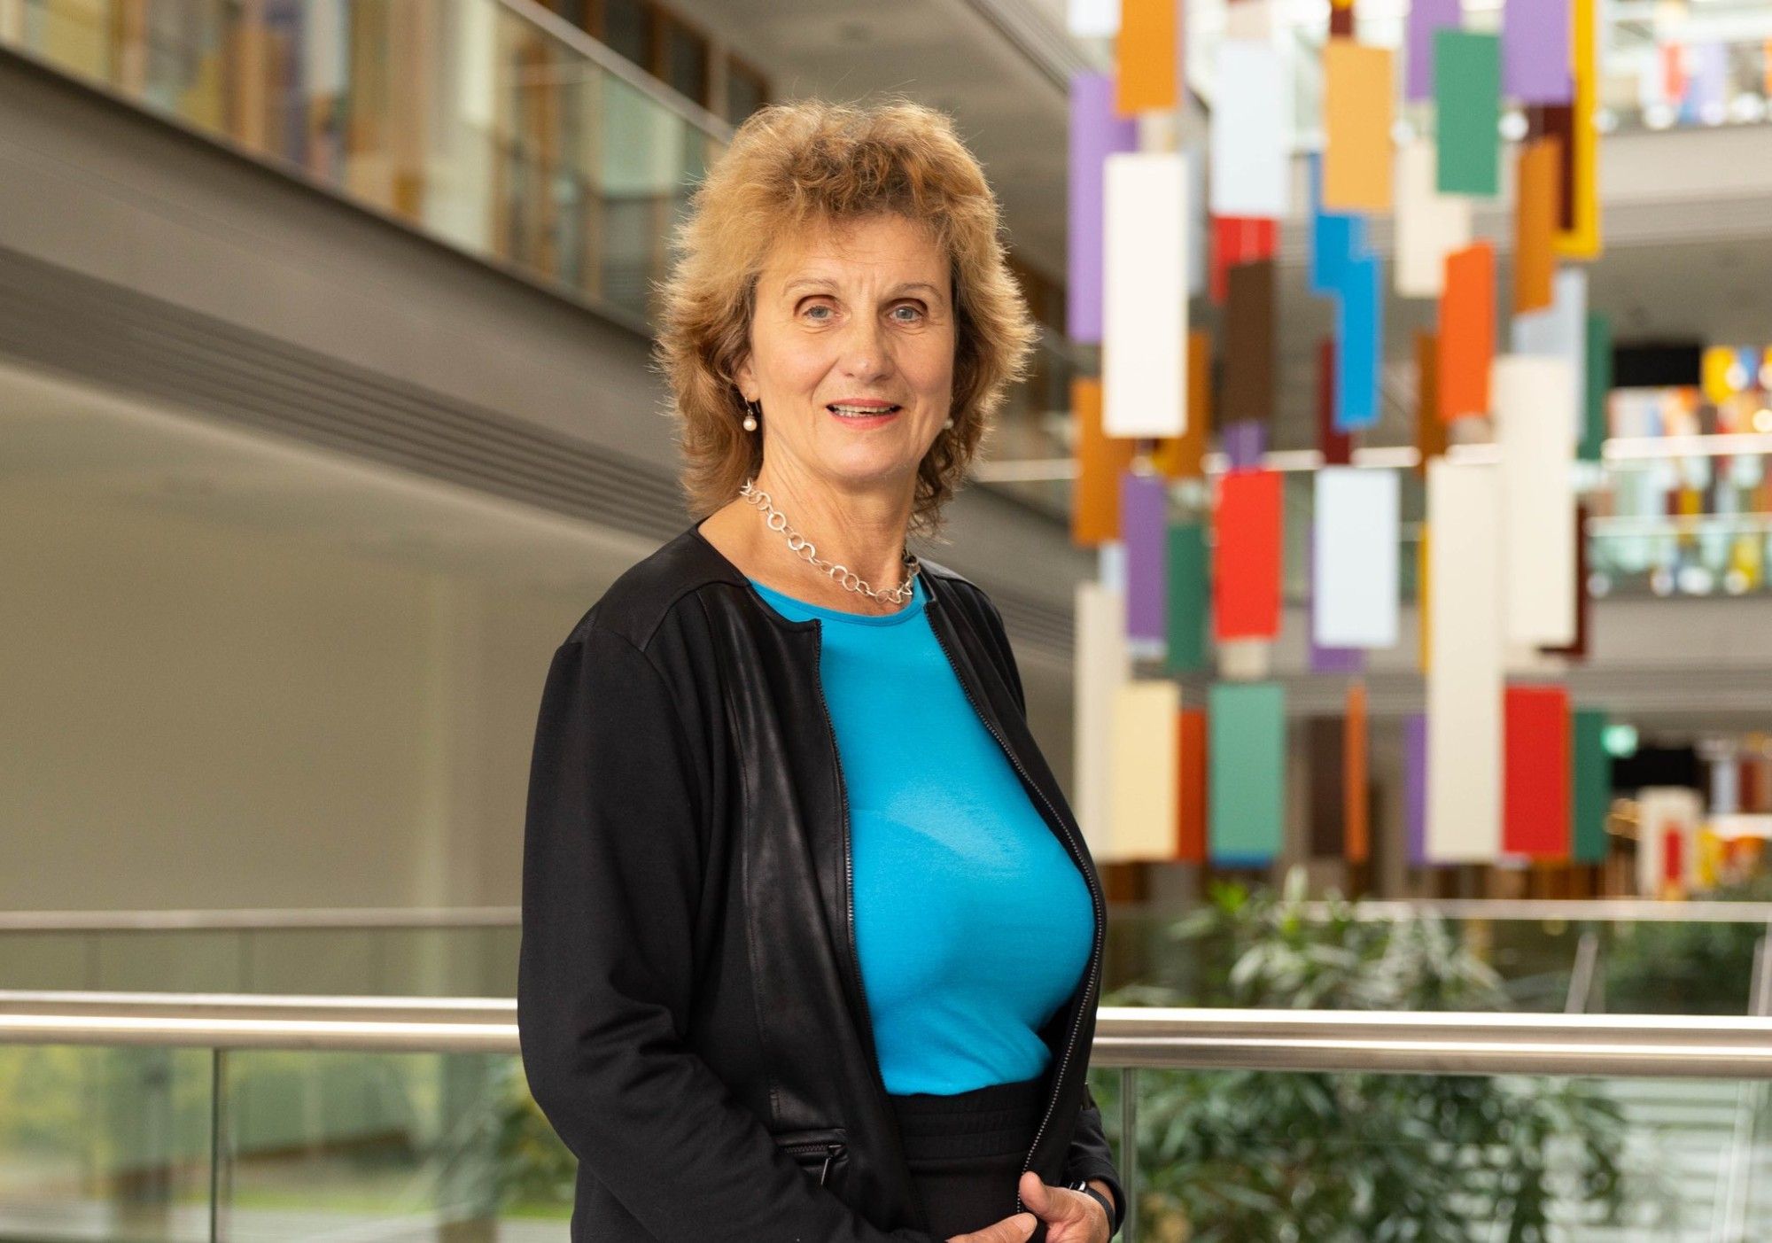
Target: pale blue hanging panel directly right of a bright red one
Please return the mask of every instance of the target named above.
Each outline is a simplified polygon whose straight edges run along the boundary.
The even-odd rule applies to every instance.
[[[1315,639],[1324,648],[1396,646],[1396,471],[1317,471],[1311,526]]]

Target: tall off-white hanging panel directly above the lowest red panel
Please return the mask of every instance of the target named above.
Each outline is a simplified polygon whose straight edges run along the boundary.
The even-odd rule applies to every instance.
[[[1575,641],[1575,407],[1568,363],[1501,354],[1488,386],[1501,450],[1504,636],[1508,643],[1566,646]]]

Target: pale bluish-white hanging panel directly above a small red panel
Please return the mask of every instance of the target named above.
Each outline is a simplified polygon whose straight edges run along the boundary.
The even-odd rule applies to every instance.
[[[1212,101],[1212,214],[1290,214],[1292,96],[1279,50],[1262,39],[1217,48]]]

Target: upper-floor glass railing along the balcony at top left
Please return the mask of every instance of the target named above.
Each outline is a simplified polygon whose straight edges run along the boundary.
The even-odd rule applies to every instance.
[[[35,0],[0,44],[636,328],[732,136],[526,0]]]

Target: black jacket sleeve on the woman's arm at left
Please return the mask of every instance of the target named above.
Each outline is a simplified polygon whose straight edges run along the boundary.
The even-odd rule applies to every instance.
[[[659,1243],[936,1243],[813,1183],[684,1039],[705,806],[688,738],[626,637],[592,627],[555,652],[523,838],[530,1092]]]

